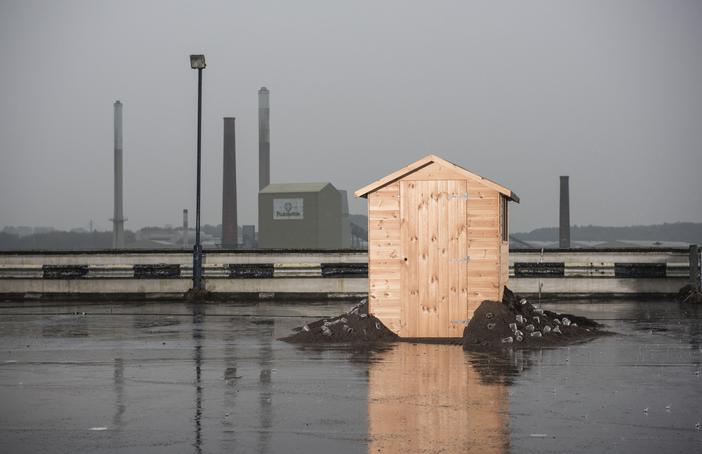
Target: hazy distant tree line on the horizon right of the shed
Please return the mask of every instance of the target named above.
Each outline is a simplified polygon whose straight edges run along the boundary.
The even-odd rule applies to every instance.
[[[524,241],[558,241],[558,228],[542,227],[528,233],[514,233],[513,236]],[[574,241],[684,241],[702,244],[702,223],[675,222],[629,227],[575,225],[571,227],[570,236]]]

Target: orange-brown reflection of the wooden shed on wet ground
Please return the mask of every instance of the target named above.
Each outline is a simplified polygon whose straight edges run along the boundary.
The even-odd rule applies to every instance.
[[[368,452],[507,452],[507,388],[481,381],[466,355],[408,343],[379,354],[369,365]]]

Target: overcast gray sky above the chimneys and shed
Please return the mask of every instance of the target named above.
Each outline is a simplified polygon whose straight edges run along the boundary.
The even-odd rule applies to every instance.
[[[702,221],[700,1],[2,0],[0,226],[110,228],[117,99],[126,227],[193,212],[190,53],[205,223],[223,116],[256,221],[263,85],[273,182],[353,191],[434,153],[519,194],[513,231],[557,224],[564,174],[574,224]]]

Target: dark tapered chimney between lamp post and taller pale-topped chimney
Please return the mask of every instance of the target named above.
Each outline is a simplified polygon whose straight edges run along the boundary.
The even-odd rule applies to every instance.
[[[234,118],[224,118],[224,165],[222,175],[222,247],[235,249],[238,243],[236,219],[236,135]]]

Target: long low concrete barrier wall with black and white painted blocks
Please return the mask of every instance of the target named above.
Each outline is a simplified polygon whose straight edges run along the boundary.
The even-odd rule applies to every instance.
[[[360,298],[363,251],[208,251],[208,290],[241,298]],[[671,296],[689,273],[686,249],[514,250],[509,286],[543,297]],[[183,251],[2,252],[4,299],[180,298],[190,288]]]

